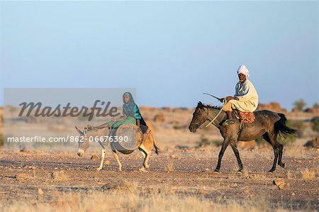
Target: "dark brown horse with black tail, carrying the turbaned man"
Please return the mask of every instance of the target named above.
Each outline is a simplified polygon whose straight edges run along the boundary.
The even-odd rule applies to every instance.
[[[213,120],[218,111],[220,111],[220,107],[207,106],[199,101],[193,113],[193,119],[189,125],[189,130],[192,133],[195,133],[197,128],[199,128],[205,121]],[[242,127],[242,130],[240,130],[240,122],[237,119],[235,120],[235,124],[225,126],[220,125],[220,122],[227,117],[225,111],[220,113],[220,116],[213,121],[212,124],[220,130],[220,134],[224,138],[223,146],[221,147],[218,155],[218,164],[215,172],[219,172],[220,163],[228,145],[233,148],[237,158],[239,166],[238,172],[242,172],[242,161],[240,160],[236,141],[249,141],[259,137],[264,138],[264,140],[270,143],[274,148],[274,163],[272,164],[272,169],[270,169],[269,172],[274,172],[276,169],[277,160],[279,166],[285,167],[284,162],[281,162],[282,150],[284,146],[281,143],[278,143],[276,138],[279,133],[296,136],[297,130],[286,126],[287,119],[283,113],[274,113],[272,111],[255,111],[254,116],[256,117],[254,123],[245,123]]]

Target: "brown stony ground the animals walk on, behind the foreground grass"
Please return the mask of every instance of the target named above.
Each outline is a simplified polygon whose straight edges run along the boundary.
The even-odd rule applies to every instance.
[[[286,147],[283,161],[287,169],[277,167],[274,174],[267,171],[272,166],[270,147],[240,149],[245,167],[243,174],[235,174],[237,162],[233,152],[226,150],[221,173],[216,174],[219,147],[162,150],[152,154],[149,172],[139,172],[142,156],[133,152],[120,155],[123,172],[118,172],[111,152],[106,154],[103,170],[96,171],[98,160],[88,151],[78,157],[75,151],[0,151],[0,199],[38,199],[38,189],[44,192],[44,200],[52,199],[53,191],[101,191],[103,185],[123,180],[136,182],[140,194],[156,192],[189,194],[206,199],[264,198],[289,210],[318,209],[318,150]],[[285,154],[286,152],[286,154]],[[312,177],[302,174],[310,170]],[[51,178],[52,172],[58,176]],[[62,174],[61,174],[62,173]],[[273,180],[281,177],[290,188],[279,189]]]

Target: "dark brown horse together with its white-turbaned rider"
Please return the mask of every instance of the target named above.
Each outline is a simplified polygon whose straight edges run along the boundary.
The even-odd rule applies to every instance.
[[[224,140],[214,172],[219,172],[221,160],[228,145],[232,147],[237,158],[239,167],[237,172],[242,172],[243,166],[237,150],[237,141],[250,141],[260,137],[264,138],[274,149],[274,162],[269,172],[275,171],[277,162],[279,166],[286,167],[285,163],[282,162],[284,145],[278,142],[277,136],[279,134],[296,136],[298,131],[286,125],[287,119],[283,113],[267,110],[255,111],[258,106],[258,95],[252,83],[247,79],[248,69],[245,65],[241,65],[237,74],[240,82],[236,85],[235,96],[226,96],[224,99],[227,102],[222,109],[198,101],[189,124],[189,130],[191,133],[195,133],[206,121],[210,121],[210,124],[212,123],[220,130],[220,135],[223,136]],[[222,102],[225,101],[222,100]],[[233,119],[233,109],[238,111],[239,120]]]

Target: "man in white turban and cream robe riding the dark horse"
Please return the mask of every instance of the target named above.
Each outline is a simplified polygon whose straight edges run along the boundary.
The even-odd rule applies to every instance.
[[[223,110],[226,111],[228,118],[223,121],[222,125],[234,124],[234,118],[232,116],[233,109],[237,109],[242,112],[252,113],[258,106],[258,94],[254,85],[247,77],[250,76],[245,65],[240,65],[237,69],[239,82],[235,87],[235,96],[226,96],[227,103],[223,106]],[[223,99],[220,101],[223,102]]]

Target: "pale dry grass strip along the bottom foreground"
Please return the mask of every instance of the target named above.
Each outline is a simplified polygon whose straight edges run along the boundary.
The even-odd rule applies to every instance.
[[[46,194],[39,194],[46,195]],[[154,194],[141,196],[136,192],[117,194],[95,191],[88,193],[53,192],[48,202],[9,201],[0,205],[0,211],[275,211],[267,199],[247,199],[221,201],[203,197]],[[284,211],[279,206],[277,211]]]

